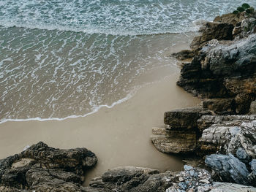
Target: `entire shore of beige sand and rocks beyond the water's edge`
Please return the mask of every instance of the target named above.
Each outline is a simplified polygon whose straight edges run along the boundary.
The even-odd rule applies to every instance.
[[[244,27],[256,12],[238,13],[236,23],[234,14],[206,23],[191,50],[173,54],[192,58],[181,73],[173,69],[121,104],[84,118],[2,123],[0,158],[37,144],[0,160],[0,191],[256,191],[255,53],[246,51],[255,49],[256,23],[252,34]],[[201,168],[200,159],[183,160],[190,154]]]

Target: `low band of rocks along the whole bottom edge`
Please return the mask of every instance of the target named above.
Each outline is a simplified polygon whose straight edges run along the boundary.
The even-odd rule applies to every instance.
[[[89,183],[89,187],[83,187],[81,185],[83,173],[96,163],[97,158],[94,153],[85,148],[59,150],[39,142],[20,154],[0,161],[0,191],[214,192],[219,190],[229,191],[231,189],[235,191],[256,191],[256,188],[244,185],[214,183],[208,171],[195,169],[188,165],[184,166],[184,171],[182,172],[167,171],[164,173],[150,168],[117,167],[108,170],[101,177],[95,177]],[[252,173],[248,176],[249,182],[250,179],[255,178],[256,161],[252,160],[250,165]]]

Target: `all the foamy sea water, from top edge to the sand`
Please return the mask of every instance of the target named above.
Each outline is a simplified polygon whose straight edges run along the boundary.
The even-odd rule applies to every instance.
[[[0,122],[113,107],[176,68],[170,52],[197,30],[194,20],[212,20],[241,3],[0,0]]]

